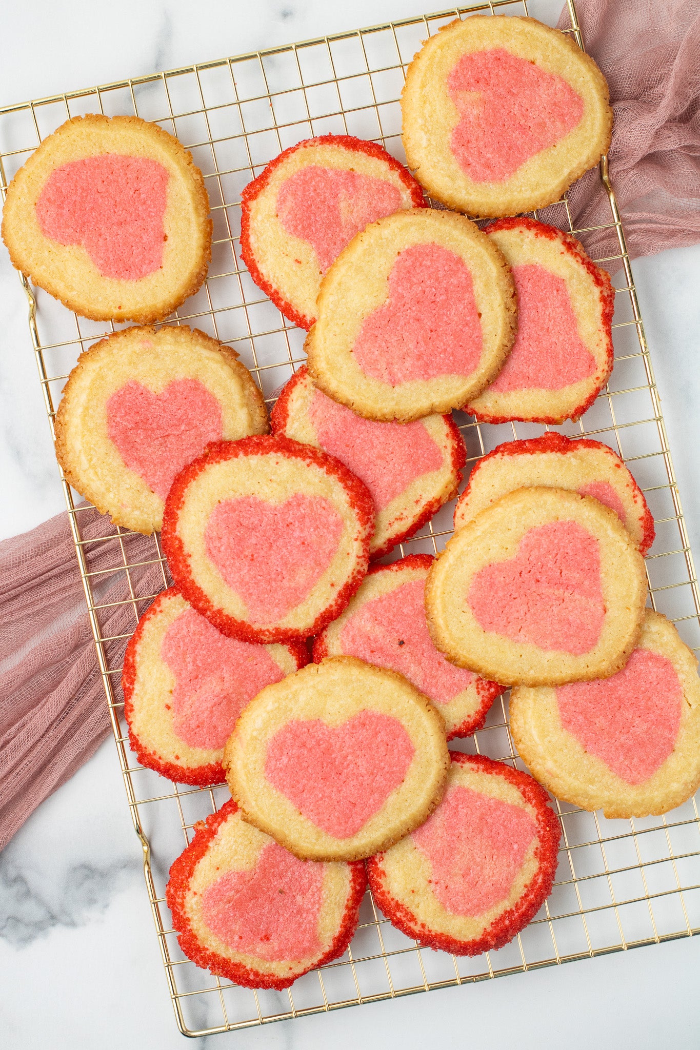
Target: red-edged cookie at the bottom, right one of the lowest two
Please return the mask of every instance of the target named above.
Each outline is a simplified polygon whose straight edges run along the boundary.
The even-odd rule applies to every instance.
[[[455,956],[503,947],[552,891],[559,822],[527,773],[450,752],[447,790],[422,827],[367,861],[376,904],[420,944]]]

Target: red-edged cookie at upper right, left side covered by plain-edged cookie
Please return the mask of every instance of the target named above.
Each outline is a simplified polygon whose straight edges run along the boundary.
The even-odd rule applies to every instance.
[[[613,370],[610,277],[553,226],[504,218],[487,233],[512,267],[517,335],[494,382],[465,412],[487,423],[578,419]]]

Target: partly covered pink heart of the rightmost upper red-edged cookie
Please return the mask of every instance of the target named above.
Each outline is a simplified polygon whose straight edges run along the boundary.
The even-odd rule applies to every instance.
[[[595,375],[595,358],[580,336],[563,277],[538,265],[513,269],[517,335],[489,390],[559,391]]]

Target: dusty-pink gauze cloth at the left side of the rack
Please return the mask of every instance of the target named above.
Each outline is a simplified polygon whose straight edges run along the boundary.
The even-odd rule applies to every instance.
[[[90,508],[78,516],[83,540],[115,536]],[[152,560],[151,537],[124,536],[130,564]],[[123,564],[120,540],[85,544],[88,571]],[[134,593],[164,587],[160,564],[130,570]],[[135,626],[126,573],[91,578],[103,637]],[[142,613],[148,602],[141,602]],[[108,668],[121,668],[127,638],[105,644]],[[119,675],[112,675],[121,699]],[[92,755],[109,732],[102,675],[68,526],[59,514],[0,543],[0,849],[40,802]]]

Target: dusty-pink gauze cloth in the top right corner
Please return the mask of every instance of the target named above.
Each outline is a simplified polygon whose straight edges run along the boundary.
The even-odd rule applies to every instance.
[[[698,0],[578,0],[584,44],[604,74],[615,121],[610,176],[631,258],[700,240]],[[565,7],[560,29],[571,26]],[[574,228],[611,222],[597,166],[569,191]],[[619,254],[615,230],[580,234],[589,255]],[[619,259],[602,261],[611,273]]]

